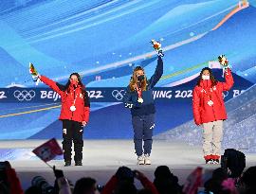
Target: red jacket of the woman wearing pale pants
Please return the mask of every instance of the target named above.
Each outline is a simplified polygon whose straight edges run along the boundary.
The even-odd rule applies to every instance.
[[[227,119],[222,93],[228,91],[234,83],[230,69],[225,72],[225,82],[212,86],[210,80],[201,80],[192,93],[192,111],[196,125]],[[210,100],[213,102],[210,105]]]

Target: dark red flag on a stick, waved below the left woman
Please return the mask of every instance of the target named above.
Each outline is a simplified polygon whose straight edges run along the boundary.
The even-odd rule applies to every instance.
[[[62,155],[64,153],[55,138],[48,140],[46,143],[32,150],[32,152],[44,162],[48,162],[57,155]]]

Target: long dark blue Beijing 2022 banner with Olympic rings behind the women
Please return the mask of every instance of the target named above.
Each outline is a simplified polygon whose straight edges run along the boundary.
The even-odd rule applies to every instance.
[[[225,100],[243,93],[247,86],[233,87],[224,92]],[[126,88],[86,88],[91,102],[121,102]],[[192,100],[190,87],[158,87],[154,88],[155,100]],[[60,102],[60,95],[49,88],[0,88],[0,102]]]

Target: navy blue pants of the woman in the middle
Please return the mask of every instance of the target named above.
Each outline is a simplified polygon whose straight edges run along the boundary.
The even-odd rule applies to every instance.
[[[134,128],[134,142],[137,156],[151,153],[152,150],[152,136],[155,127],[155,114],[151,115],[136,115],[132,117]],[[142,140],[144,146],[142,150]]]

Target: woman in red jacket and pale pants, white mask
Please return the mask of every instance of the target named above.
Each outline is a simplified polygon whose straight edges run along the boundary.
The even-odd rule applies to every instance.
[[[229,68],[225,69],[225,79],[225,82],[217,81],[210,68],[203,68],[192,94],[194,122],[203,126],[203,152],[207,164],[219,163],[223,120],[227,119],[222,93],[234,82]]]

